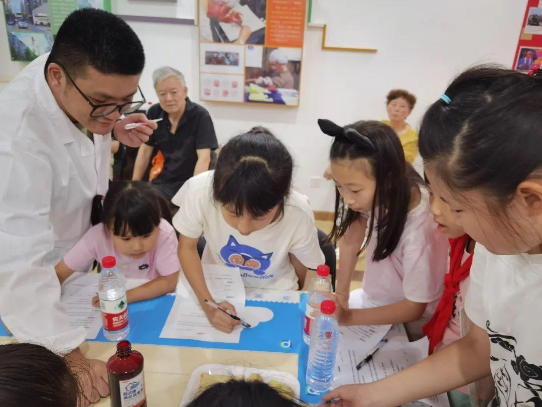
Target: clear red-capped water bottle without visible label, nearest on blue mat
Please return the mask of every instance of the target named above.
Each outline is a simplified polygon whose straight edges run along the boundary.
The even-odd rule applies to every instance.
[[[307,385],[318,393],[330,390],[335,370],[335,357],[339,343],[339,324],[333,313],[335,303],[322,301],[320,315],[311,329],[311,346],[308,351]]]

